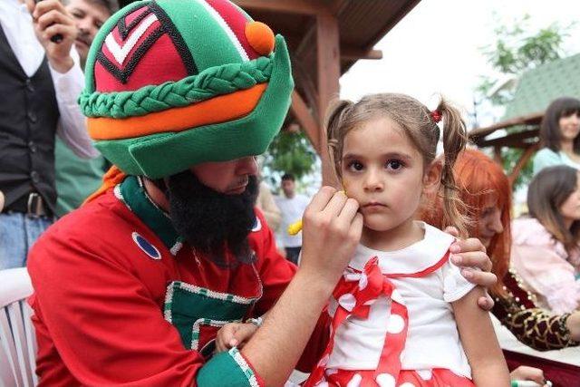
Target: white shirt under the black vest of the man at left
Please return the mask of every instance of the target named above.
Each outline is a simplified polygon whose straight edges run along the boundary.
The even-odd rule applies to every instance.
[[[36,39],[32,16],[26,5],[18,0],[0,0],[0,25],[14,56],[24,73],[32,77],[43,63],[44,49]],[[86,130],[86,120],[77,103],[84,86],[84,74],[79,65],[79,54],[71,49],[73,68],[58,73],[49,64],[54,83],[56,102],[60,112],[56,134],[73,152],[84,159],[97,157],[100,153],[92,146]]]

